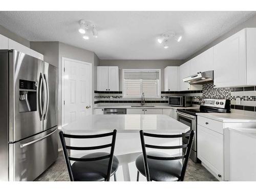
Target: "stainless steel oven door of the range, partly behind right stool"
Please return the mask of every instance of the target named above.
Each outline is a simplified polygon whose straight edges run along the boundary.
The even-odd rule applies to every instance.
[[[194,115],[188,115],[182,112],[177,111],[177,120],[182,122],[183,124],[186,124],[187,126],[190,127],[190,130],[193,130],[195,132],[193,144],[192,144],[192,151],[190,154],[190,158],[193,161],[197,161],[197,116]],[[182,138],[183,143],[188,143],[188,137],[183,137]]]

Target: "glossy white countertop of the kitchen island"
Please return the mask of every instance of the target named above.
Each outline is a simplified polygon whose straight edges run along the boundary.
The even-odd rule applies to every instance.
[[[64,133],[185,133],[190,127],[167,115],[87,115],[62,126]]]

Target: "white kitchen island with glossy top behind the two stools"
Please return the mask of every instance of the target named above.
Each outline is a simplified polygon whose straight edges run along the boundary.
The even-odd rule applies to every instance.
[[[140,130],[157,134],[181,134],[190,130],[189,126],[167,115],[88,115],[62,126],[64,133],[76,135],[106,133],[114,129],[117,130],[114,154],[120,162],[116,173],[118,181],[136,181],[135,159],[142,153]],[[110,141],[111,138],[100,138],[72,139],[70,142],[72,146],[94,146],[110,143]],[[145,142],[157,145],[180,145],[182,144],[182,139],[145,138]],[[105,148],[103,151],[110,152],[110,149]],[[154,149],[150,151],[154,151]],[[181,155],[182,153],[180,149],[162,151],[170,155]],[[90,151],[89,153],[93,152],[96,151]],[[83,152],[71,152],[73,157],[81,157],[83,155]],[[145,178],[140,177],[140,181],[145,181]]]

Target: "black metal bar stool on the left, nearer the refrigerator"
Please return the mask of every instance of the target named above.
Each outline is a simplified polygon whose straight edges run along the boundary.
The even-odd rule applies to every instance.
[[[91,139],[108,136],[112,136],[112,142],[98,146],[68,146],[65,141],[65,138]],[[115,173],[119,166],[119,161],[117,157],[114,156],[116,130],[98,135],[69,135],[61,131],[59,132],[59,137],[71,181],[109,181],[112,175],[114,175],[116,181]],[[98,150],[107,147],[111,147],[110,153],[96,152],[84,155],[81,158],[74,158],[68,155],[68,150]],[[71,165],[70,161],[75,162]]]

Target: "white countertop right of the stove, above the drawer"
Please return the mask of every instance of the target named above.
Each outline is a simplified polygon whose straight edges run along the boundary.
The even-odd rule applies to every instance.
[[[221,122],[256,122],[256,117],[246,116],[246,115],[239,115],[235,113],[197,113],[198,116],[221,121]]]

